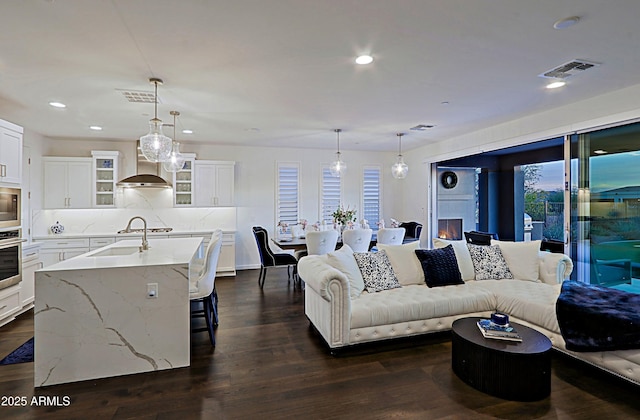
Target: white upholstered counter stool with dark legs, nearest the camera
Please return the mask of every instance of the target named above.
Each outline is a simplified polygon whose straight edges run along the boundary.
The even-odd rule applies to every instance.
[[[207,245],[202,271],[196,274],[197,271],[191,270],[189,273],[191,318],[204,317],[207,325],[206,328],[194,328],[191,331],[207,331],[212,346],[216,345],[213,328],[218,326],[218,293],[216,292],[215,279],[221,248],[222,230],[216,229]],[[202,309],[199,309],[198,306],[201,306]]]

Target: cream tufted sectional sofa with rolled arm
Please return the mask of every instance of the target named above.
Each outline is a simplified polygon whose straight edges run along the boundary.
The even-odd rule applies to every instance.
[[[484,268],[473,265],[464,241],[436,239],[434,245],[453,247],[461,284],[428,287],[416,257],[417,243],[381,247],[401,287],[378,292],[368,292],[361,284],[366,270],[360,271],[348,247],[299,261],[298,273],[306,285],[306,316],[332,352],[360,343],[446,331],[458,318],[489,317],[498,311],[545,334],[556,350],[640,384],[640,350],[566,349],[556,300],[561,283],[573,270],[568,256],[538,251],[539,241],[496,241],[514,278],[476,280]]]

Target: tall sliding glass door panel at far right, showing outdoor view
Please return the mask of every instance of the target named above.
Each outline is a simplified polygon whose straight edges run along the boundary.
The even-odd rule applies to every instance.
[[[640,292],[640,124],[572,136],[571,186],[576,278]]]

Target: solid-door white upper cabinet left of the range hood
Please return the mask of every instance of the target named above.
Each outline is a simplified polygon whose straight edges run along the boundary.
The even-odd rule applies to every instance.
[[[91,207],[91,158],[43,157],[45,209]]]

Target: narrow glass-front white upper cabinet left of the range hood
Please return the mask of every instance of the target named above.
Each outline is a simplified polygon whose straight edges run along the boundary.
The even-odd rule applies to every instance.
[[[116,182],[120,167],[120,152],[92,150],[93,207],[115,207]]]

